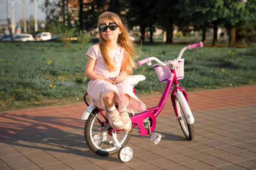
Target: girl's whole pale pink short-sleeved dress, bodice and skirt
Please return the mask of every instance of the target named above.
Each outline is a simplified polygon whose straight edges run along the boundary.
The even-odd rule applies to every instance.
[[[90,46],[86,55],[87,57],[91,57],[95,60],[95,66],[93,68],[93,72],[99,74],[102,77],[106,77],[109,79],[113,79],[117,77],[121,70],[122,59],[124,57],[124,49],[119,46],[116,50],[108,51],[109,56],[113,59],[113,62],[116,66],[116,71],[109,71],[105,60],[102,56],[102,53],[99,49],[99,44]],[[108,94],[108,92],[116,92],[115,93],[115,101],[122,105],[123,107],[131,109],[134,113],[140,113],[146,110],[145,104],[137,98],[137,96],[133,93],[132,86],[126,82],[120,82],[116,85],[113,85],[103,79],[90,80],[87,88],[87,93],[90,98],[90,101],[93,102],[95,106],[101,109],[106,109],[106,106],[102,100],[102,97]],[[130,102],[124,96],[128,94],[131,96]]]

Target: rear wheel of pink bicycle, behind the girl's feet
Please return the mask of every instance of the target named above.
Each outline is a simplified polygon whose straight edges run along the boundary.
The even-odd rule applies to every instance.
[[[90,150],[102,156],[117,153],[118,149],[113,146],[113,138],[110,134],[111,127],[108,124],[104,124],[103,126],[99,121],[105,122],[105,119],[97,109],[94,109],[84,125],[84,139],[86,144]],[[119,133],[124,132],[120,131]],[[122,146],[125,146],[131,134],[119,135],[119,133],[117,133],[117,139]]]

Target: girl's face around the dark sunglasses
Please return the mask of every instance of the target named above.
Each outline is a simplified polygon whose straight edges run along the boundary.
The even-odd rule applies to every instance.
[[[100,20],[101,24],[106,23],[107,26],[109,26],[109,23],[113,23],[115,21],[112,20],[107,20],[107,19],[102,19]],[[121,34],[122,32],[120,31],[119,27],[116,28],[116,30],[111,31],[109,28],[107,28],[107,31],[102,32],[100,31],[102,34],[102,37],[108,41],[108,42],[117,42],[117,38],[119,36],[119,34]]]

